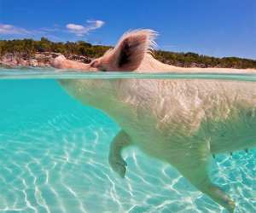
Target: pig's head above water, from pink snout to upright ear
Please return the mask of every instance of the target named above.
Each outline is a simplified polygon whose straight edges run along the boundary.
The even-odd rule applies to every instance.
[[[102,57],[84,64],[66,60],[61,55],[52,62],[52,66],[62,69],[76,69],[83,71],[134,71],[143,62],[154,47],[156,32],[152,30],[137,30],[126,32],[119,43],[109,49]]]

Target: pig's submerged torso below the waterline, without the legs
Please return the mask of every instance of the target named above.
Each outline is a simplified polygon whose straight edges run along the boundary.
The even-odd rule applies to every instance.
[[[61,84],[84,105],[107,113],[129,132],[137,146],[144,151],[149,149],[146,152],[157,158],[163,157],[165,147],[171,146],[172,141],[189,143],[193,137],[208,141],[211,154],[230,153],[256,144],[256,83],[68,79],[61,80]],[[160,147],[160,141],[166,144]],[[161,156],[154,153],[157,146]],[[166,155],[172,151],[166,149]]]

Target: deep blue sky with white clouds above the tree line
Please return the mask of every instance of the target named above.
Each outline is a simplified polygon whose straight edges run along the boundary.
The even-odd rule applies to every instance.
[[[137,28],[159,32],[159,49],[256,59],[255,0],[0,0],[1,39],[114,45]]]

